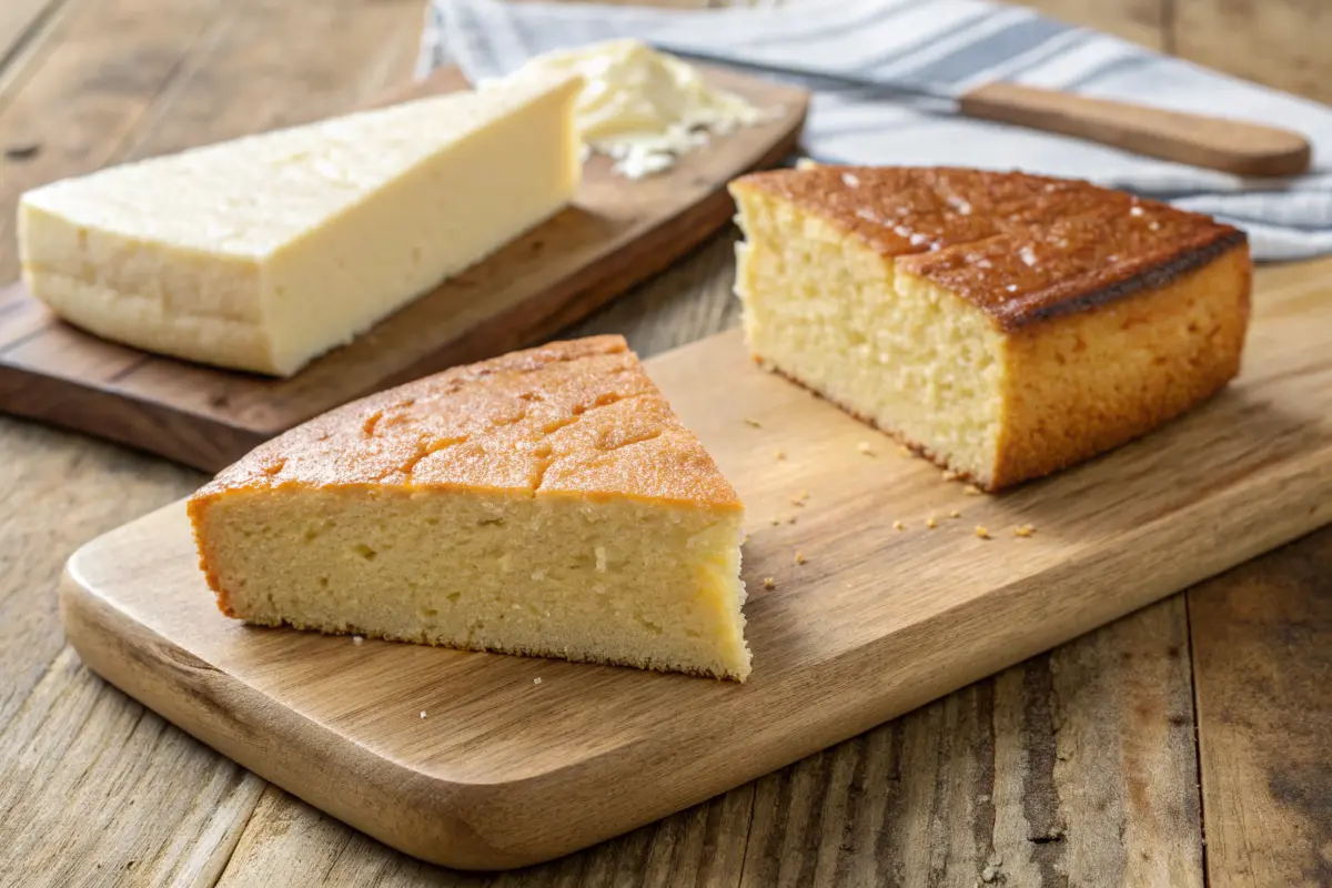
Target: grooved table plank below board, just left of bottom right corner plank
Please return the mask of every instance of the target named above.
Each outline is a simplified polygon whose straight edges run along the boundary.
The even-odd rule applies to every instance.
[[[757,783],[745,884],[1200,885],[1181,598]]]

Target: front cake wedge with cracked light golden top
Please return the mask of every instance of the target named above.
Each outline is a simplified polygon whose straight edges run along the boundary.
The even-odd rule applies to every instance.
[[[222,612],[745,680],[735,491],[621,337],[457,367],[189,501]]]

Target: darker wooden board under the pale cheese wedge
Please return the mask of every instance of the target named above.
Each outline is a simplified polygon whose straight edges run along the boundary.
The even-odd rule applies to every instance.
[[[734,213],[726,182],[795,150],[809,93],[703,71],[774,116],[641,181],[591,158],[567,210],[290,379],[99,339],[56,320],[21,284],[0,288],[0,410],[217,471],[340,403],[547,338],[706,240]],[[448,69],[373,104],[464,88]]]

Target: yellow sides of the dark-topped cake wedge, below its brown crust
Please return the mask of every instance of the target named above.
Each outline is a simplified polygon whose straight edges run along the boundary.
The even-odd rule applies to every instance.
[[[1239,373],[1243,241],[1159,285],[1144,274],[1118,298],[1006,329],[835,216],[745,180],[731,193],[755,361],[988,491],[1143,435]]]

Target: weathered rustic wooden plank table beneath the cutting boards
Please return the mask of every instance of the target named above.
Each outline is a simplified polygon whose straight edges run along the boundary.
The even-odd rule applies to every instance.
[[[1332,99],[1321,4],[1038,5]],[[25,188],[348,108],[409,76],[421,13],[0,0],[0,281],[17,274]],[[731,242],[573,333],[622,332],[653,354],[733,325]],[[0,417],[0,884],[1332,884],[1332,529],[697,808],[488,880],[322,816],[64,644],[65,556],[201,481]]]

